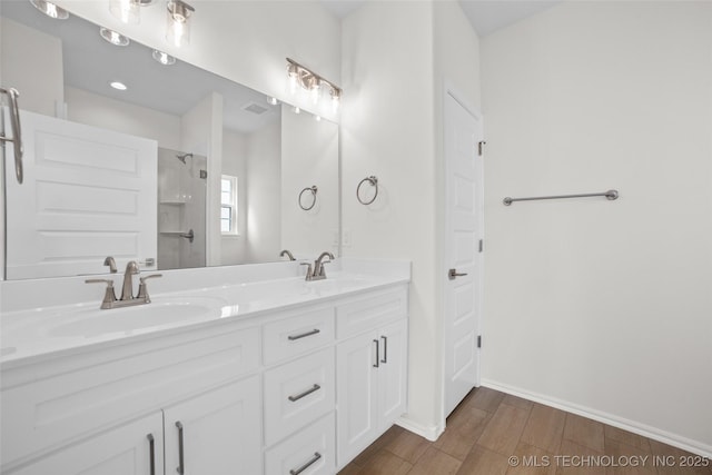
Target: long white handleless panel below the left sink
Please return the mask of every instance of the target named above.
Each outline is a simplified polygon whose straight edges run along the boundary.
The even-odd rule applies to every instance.
[[[157,340],[157,346],[160,340]],[[131,353],[2,392],[4,464],[259,367],[259,328]]]

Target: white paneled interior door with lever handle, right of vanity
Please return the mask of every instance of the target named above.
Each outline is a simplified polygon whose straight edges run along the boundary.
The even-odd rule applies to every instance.
[[[445,416],[478,384],[482,118],[445,100]],[[456,274],[452,276],[451,274]]]

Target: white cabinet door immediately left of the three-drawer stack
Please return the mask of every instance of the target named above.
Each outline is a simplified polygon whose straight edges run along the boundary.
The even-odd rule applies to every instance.
[[[166,473],[261,473],[259,376],[164,409]]]

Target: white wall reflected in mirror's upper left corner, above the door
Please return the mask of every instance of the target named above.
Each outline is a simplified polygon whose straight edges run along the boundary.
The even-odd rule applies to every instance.
[[[20,109],[55,117],[65,102],[61,41],[7,18],[0,34],[0,83],[18,89]]]

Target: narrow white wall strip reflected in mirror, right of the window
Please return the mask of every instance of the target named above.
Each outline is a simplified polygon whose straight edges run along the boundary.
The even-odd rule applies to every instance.
[[[279,260],[281,207],[280,122],[250,133],[247,145],[248,263]]]

